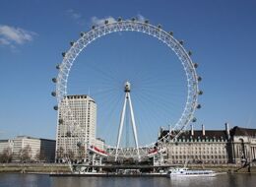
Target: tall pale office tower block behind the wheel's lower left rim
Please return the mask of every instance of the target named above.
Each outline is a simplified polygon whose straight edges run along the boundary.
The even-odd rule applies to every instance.
[[[68,103],[68,106],[66,104]],[[84,159],[96,145],[96,102],[89,95],[68,95],[59,105],[56,161]]]

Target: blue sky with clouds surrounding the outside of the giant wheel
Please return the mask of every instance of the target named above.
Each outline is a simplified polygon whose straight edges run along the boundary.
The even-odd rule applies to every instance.
[[[223,129],[224,122],[256,128],[255,10],[252,0],[2,0],[0,138],[23,134],[55,138],[52,106],[56,100],[50,96],[54,90],[51,78],[57,75],[55,65],[81,31],[89,31],[94,22],[109,17],[147,18],[165,31],[174,31],[176,38],[185,41],[185,48],[193,51],[204,91],[196,128],[205,124],[207,129]],[[113,41],[117,40],[113,36]],[[91,56],[84,53],[83,58],[92,60],[95,54],[95,60],[100,61],[96,54],[110,41],[99,41],[97,49],[92,45]],[[111,47],[115,46],[108,50],[114,50]],[[119,58],[127,57],[122,55]]]

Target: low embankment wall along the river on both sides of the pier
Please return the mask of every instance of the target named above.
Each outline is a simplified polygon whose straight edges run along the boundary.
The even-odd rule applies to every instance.
[[[191,169],[212,169],[217,172],[230,173],[247,173],[248,167],[240,168],[241,165],[236,164],[189,164]],[[70,173],[68,164],[59,163],[2,163],[0,164],[0,172],[13,173]],[[251,173],[256,173],[256,165],[250,167]]]

